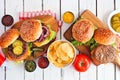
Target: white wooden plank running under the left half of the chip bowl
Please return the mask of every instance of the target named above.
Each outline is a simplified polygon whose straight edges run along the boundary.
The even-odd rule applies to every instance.
[[[60,4],[59,0],[43,0],[43,10],[51,10],[56,13],[56,18],[60,19]],[[60,39],[60,31],[57,34],[57,39]],[[56,68],[50,64],[47,69],[44,70],[44,80],[57,80],[61,79],[61,69]]]

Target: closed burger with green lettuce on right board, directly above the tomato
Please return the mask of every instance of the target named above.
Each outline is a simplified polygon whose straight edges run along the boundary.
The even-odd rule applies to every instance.
[[[97,45],[93,38],[95,29],[96,27],[88,19],[77,20],[71,29],[71,43],[81,52],[88,53],[89,47],[92,49]],[[83,51],[83,49],[85,50]]]

